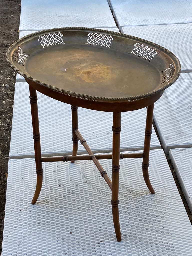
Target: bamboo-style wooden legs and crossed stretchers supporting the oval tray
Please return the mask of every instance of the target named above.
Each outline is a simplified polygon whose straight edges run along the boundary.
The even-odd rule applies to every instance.
[[[36,161],[36,173],[37,173],[37,185],[35,194],[32,200],[32,204],[35,204],[42,187],[43,180],[43,169],[42,162],[58,162],[58,161],[71,161],[74,163],[79,160],[92,160],[94,164],[99,169],[101,176],[105,179],[106,183],[112,190],[112,212],[113,212],[113,222],[116,233],[117,241],[121,241],[121,231],[120,231],[120,222],[119,222],[119,169],[120,169],[120,159],[123,158],[143,158],[143,177],[145,183],[152,194],[155,194],[155,191],[151,185],[148,166],[149,166],[149,153],[150,153],[150,143],[151,143],[151,134],[152,134],[152,123],[153,123],[153,108],[154,104],[147,107],[147,119],[146,119],[146,129],[145,129],[145,142],[144,142],[144,151],[143,153],[127,153],[120,154],[120,133],[121,133],[121,112],[113,113],[113,152],[112,154],[104,155],[94,155],[90,147],[87,145],[86,140],[82,137],[81,133],[78,130],[78,107],[71,106],[72,110],[72,141],[73,141],[73,152],[72,156],[55,156],[55,157],[42,157],[41,156],[41,144],[40,144],[40,133],[39,133],[39,118],[38,118],[38,106],[37,106],[37,92],[32,87],[30,89],[30,102],[31,102],[31,115],[33,123],[33,138],[34,138],[34,147],[35,147],[35,161]],[[81,144],[86,149],[89,155],[77,155],[78,152],[78,141],[80,140]],[[99,163],[99,159],[112,159],[112,181],[109,176]]]

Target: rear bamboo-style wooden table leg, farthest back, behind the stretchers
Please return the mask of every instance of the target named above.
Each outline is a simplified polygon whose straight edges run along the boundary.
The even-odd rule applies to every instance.
[[[75,130],[78,130],[78,107],[76,106],[72,106],[71,105],[71,111],[72,111],[72,132],[73,132],[73,137],[72,137],[72,141],[73,141],[73,153],[72,156],[76,156],[77,155],[77,151],[78,151],[78,137],[75,133]],[[74,163],[75,161],[71,161],[71,163]]]

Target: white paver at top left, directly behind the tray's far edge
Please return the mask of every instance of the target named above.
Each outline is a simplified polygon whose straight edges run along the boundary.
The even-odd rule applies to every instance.
[[[22,0],[20,31],[116,27],[107,0]]]

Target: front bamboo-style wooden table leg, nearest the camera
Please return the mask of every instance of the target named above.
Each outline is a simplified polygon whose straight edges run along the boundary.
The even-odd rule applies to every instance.
[[[119,155],[120,155],[121,112],[113,113],[113,158],[112,158],[112,212],[117,241],[121,241],[119,223]]]

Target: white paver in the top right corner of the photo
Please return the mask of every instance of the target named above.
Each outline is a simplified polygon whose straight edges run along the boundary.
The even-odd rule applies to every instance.
[[[192,22],[191,0],[109,0],[119,29],[125,26]]]

